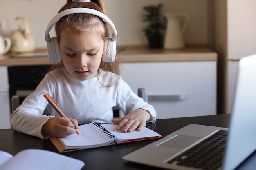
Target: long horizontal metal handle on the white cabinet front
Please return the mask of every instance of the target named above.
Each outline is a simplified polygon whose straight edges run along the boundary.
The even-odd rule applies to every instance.
[[[181,101],[186,100],[188,95],[148,95],[148,100],[158,100],[158,101]]]

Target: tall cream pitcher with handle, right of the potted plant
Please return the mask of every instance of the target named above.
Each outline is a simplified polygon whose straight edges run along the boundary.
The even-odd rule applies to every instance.
[[[190,16],[186,13],[164,13],[164,16],[167,20],[164,49],[184,48],[185,43],[183,34],[189,23]]]

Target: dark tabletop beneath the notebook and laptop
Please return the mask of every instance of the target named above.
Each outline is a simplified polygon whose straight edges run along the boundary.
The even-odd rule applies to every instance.
[[[229,119],[229,114],[200,117],[184,117],[175,119],[159,119],[154,124],[147,124],[147,127],[155,130],[163,136],[166,136],[171,132],[174,132],[175,130],[178,130],[188,124],[203,124],[210,126],[229,127]],[[83,167],[83,170],[155,170],[157,168],[124,161],[122,157],[156,140],[158,139],[137,141],[126,144],[117,144],[87,150],[79,150],[63,153],[63,155],[67,155],[84,161],[85,166]],[[21,150],[29,148],[58,152],[49,139],[42,140],[38,137],[33,137],[22,134],[20,132],[16,132],[13,129],[0,130],[0,150],[15,155]],[[47,158],[42,159],[45,159],[45,161],[47,162]],[[248,169],[245,168],[248,165],[252,165],[255,168],[256,154],[253,154],[250,159],[243,163],[241,169]]]

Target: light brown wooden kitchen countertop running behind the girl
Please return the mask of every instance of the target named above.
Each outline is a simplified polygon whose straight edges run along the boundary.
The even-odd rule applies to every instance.
[[[117,59],[120,62],[172,62],[216,61],[217,53],[206,46],[188,46],[184,49],[148,49],[146,46],[119,46]],[[46,49],[33,53],[0,56],[0,66],[28,66],[52,64]]]

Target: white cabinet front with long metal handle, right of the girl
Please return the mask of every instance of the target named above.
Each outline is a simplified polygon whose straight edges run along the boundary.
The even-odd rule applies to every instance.
[[[137,93],[146,88],[157,119],[216,114],[216,61],[126,62],[121,75]]]

